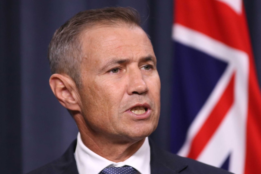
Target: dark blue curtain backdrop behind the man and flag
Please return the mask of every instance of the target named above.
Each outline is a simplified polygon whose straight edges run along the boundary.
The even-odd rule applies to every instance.
[[[170,149],[173,43],[171,0],[0,1],[0,169],[25,173],[58,158],[78,133],[74,120],[48,84],[47,47],[55,29],[79,11],[131,6],[151,36],[161,78],[161,116],[151,135]],[[245,2],[256,66],[261,77],[261,1]]]

